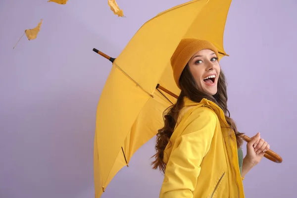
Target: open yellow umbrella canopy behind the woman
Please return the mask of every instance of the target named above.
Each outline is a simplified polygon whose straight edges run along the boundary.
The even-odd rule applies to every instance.
[[[94,145],[95,194],[99,198],[135,151],[163,125],[163,111],[178,95],[170,57],[182,38],[210,41],[220,53],[231,0],[192,0],[147,21],[113,61],[102,90]]]

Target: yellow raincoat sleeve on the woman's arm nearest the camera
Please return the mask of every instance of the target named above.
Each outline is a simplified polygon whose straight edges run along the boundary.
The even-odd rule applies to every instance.
[[[193,198],[200,164],[208,152],[217,126],[217,117],[207,107],[197,108],[174,143],[159,198]]]

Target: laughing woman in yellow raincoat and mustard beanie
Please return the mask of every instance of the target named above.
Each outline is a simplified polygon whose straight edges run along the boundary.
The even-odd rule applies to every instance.
[[[157,134],[152,164],[164,173],[159,198],[244,198],[242,180],[269,145],[258,133],[243,158],[217,49],[208,41],[183,39],[171,66],[181,93]]]

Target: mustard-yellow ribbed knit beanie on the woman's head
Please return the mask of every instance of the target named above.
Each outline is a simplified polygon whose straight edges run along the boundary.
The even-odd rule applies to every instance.
[[[210,49],[219,58],[218,50],[212,43],[198,39],[182,39],[175,49],[170,61],[176,85],[179,86],[179,79],[191,57],[202,49]]]

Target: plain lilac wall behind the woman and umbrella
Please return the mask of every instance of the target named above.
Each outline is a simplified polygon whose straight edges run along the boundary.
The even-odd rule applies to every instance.
[[[94,198],[97,102],[111,63],[158,12],[186,0],[0,0],[0,198]],[[296,0],[234,0],[221,61],[229,108],[240,131],[261,132],[284,162],[248,173],[247,198],[293,198],[296,191]],[[103,19],[104,17],[104,19]],[[38,38],[27,28],[44,22]],[[211,24],[210,24],[211,25]],[[156,198],[162,175],[149,166],[154,139],[139,149],[102,198]]]

